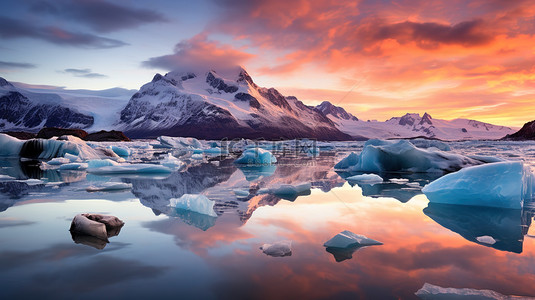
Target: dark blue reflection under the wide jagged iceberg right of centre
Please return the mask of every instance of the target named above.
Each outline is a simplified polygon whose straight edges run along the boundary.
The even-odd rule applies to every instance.
[[[364,174],[363,172],[337,171],[342,178]],[[378,184],[362,184],[348,181],[351,186],[358,185],[362,189],[362,195],[372,198],[390,197],[402,203],[408,202],[414,196],[422,194],[422,188],[431,181],[439,178],[438,173],[380,173],[384,180]]]

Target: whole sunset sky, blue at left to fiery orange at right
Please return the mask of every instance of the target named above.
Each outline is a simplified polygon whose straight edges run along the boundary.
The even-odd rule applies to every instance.
[[[4,0],[0,76],[139,89],[241,65],[260,86],[363,120],[535,119],[535,2]]]

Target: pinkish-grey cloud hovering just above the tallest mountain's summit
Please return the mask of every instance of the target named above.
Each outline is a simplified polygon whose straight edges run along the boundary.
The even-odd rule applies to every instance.
[[[250,53],[242,52],[231,46],[208,40],[199,34],[189,40],[176,44],[174,53],[152,57],[142,63],[148,68],[161,68],[169,71],[206,71],[225,72],[252,58]]]

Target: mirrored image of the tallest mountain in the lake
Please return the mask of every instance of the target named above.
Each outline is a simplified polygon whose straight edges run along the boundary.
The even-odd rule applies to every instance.
[[[280,200],[293,201],[295,197],[258,194],[260,188],[269,188],[281,184],[311,182],[312,187],[328,192],[333,187],[342,186],[344,180],[333,170],[334,157],[319,158],[285,158],[281,157],[276,166],[237,167],[233,159],[217,162],[203,162],[189,166],[182,172],[174,172],[165,179],[126,178],[131,183],[132,193],[140,202],[150,207],[156,215],[161,213],[178,217],[185,223],[201,230],[207,230],[215,224],[215,218],[199,218],[190,212],[177,213],[169,207],[171,198],[180,198],[184,194],[202,194],[215,201],[214,211],[222,214],[237,215],[242,223],[252,216],[261,206],[276,205]],[[235,190],[248,191],[249,195],[237,196]],[[285,199],[287,198],[287,199]]]

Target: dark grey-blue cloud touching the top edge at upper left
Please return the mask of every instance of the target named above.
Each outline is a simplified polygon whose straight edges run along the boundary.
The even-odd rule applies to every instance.
[[[99,32],[136,28],[143,24],[165,22],[153,10],[131,8],[106,1],[40,1],[31,10],[86,24]]]

